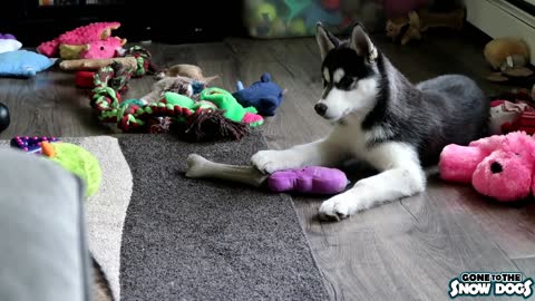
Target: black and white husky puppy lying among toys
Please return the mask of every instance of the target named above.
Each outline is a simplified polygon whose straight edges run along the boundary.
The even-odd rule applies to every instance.
[[[318,23],[317,41],[324,89],[314,109],[332,123],[332,132],[310,144],[261,151],[252,163],[273,173],[352,158],[378,171],[323,202],[320,217],[340,220],[424,192],[424,167],[436,164],[446,145],[467,145],[486,135],[489,104],[474,80],[444,75],[414,85],[360,23],[348,40]]]

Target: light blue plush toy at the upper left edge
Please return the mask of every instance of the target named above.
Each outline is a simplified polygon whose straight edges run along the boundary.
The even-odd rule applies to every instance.
[[[17,50],[0,54],[0,76],[32,77],[56,62],[43,55]]]

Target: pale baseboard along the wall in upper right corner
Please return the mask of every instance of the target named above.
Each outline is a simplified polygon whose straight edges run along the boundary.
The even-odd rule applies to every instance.
[[[492,38],[523,38],[535,65],[535,17],[502,0],[466,0],[467,21]]]

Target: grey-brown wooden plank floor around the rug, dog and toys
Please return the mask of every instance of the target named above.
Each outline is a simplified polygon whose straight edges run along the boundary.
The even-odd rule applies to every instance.
[[[488,94],[505,87],[485,81],[484,40],[471,33],[428,36],[420,43],[396,46],[382,36],[377,45],[414,81],[460,72]],[[329,127],[313,111],[320,96],[320,59],[313,38],[288,40],[227,39],[224,42],[148,45],[158,65],[200,65],[221,75],[214,85],[234,90],[264,71],[288,89],[275,117],[263,132],[270,147],[283,148],[324,135]],[[127,98],[140,97],[153,79],[133,80]],[[72,75],[39,74],[33,79],[0,79],[0,101],[12,115],[0,135],[87,136],[113,134],[91,117]],[[470,187],[430,176],[426,193],[352,216],[320,223],[320,198],[295,205],[333,300],[448,300],[448,283],[466,271],[523,271],[535,276],[535,208],[500,206]]]

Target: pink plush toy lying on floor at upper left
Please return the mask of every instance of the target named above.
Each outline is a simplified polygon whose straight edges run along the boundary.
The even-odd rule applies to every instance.
[[[123,46],[126,40],[110,38],[111,30],[120,27],[119,22],[96,22],[76,28],[60,35],[58,38],[43,42],[37,47],[37,51],[49,58],[59,56],[61,45],[81,50],[78,58],[113,58],[116,55],[118,41]],[[106,51],[98,54],[97,49],[106,48]],[[109,48],[109,49],[108,49]],[[119,47],[120,48],[120,47]],[[93,50],[91,50],[93,49]]]

